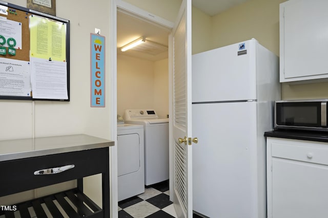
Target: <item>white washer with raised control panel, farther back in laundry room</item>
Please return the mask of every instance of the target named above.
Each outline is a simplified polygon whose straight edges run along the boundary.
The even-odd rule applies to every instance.
[[[145,185],[169,179],[169,118],[158,118],[154,110],[126,110],[126,123],[144,125]]]

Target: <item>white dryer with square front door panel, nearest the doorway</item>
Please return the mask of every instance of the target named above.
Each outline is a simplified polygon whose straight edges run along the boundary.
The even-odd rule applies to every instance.
[[[118,201],[145,192],[144,126],[117,125]]]

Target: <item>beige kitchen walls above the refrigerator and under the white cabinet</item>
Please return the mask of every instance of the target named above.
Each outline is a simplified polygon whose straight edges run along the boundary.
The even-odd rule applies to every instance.
[[[208,43],[200,40],[197,30],[203,30],[208,39],[210,23],[211,49],[256,38],[261,45],[279,56],[279,4],[285,1],[250,0],[213,17],[193,10],[196,11],[192,15],[193,54],[203,51],[201,48],[208,48]],[[281,98],[328,98],[328,82],[297,85],[282,83]]]

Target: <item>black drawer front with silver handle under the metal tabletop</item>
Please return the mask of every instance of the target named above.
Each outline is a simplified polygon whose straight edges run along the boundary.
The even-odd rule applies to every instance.
[[[0,162],[0,197],[105,172],[109,167],[104,165],[108,152],[108,148],[96,148]],[[74,168],[51,175],[34,175],[36,170],[66,165]]]

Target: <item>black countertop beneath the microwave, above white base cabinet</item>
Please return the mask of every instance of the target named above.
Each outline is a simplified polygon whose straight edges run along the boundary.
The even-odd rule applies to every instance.
[[[328,142],[328,132],[309,130],[276,129],[264,133],[266,137]]]

